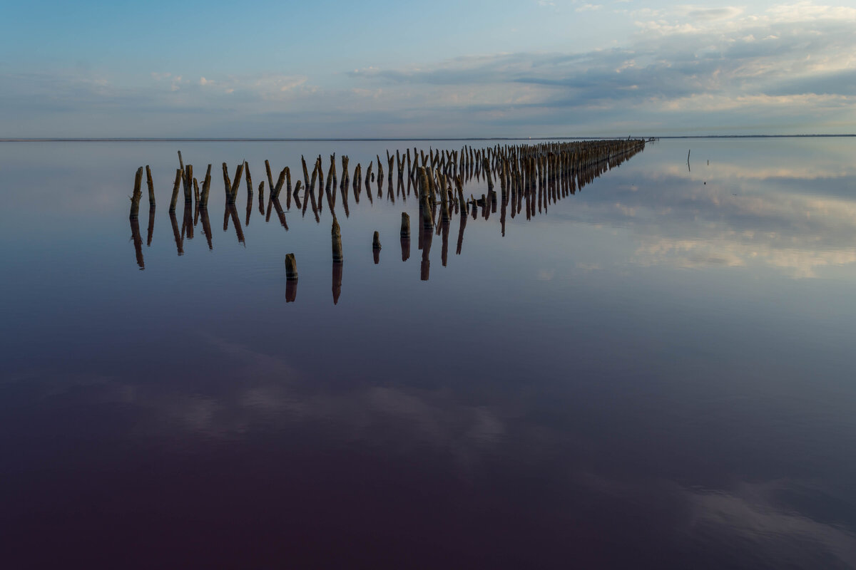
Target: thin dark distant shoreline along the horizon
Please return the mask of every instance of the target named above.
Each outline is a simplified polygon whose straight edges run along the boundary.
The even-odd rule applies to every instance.
[[[629,138],[847,138],[856,134],[726,134],[726,135],[644,135]],[[473,138],[0,138],[0,143],[294,143],[294,142],[412,142],[465,140],[611,140],[624,137],[473,137]]]

